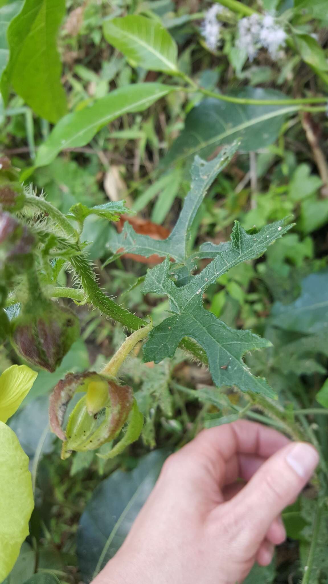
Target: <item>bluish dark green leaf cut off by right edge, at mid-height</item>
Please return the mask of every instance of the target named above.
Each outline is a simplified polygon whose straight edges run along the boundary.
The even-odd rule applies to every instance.
[[[287,331],[309,335],[328,327],[328,270],[310,274],[302,281],[300,296],[291,304],[273,305],[270,323]]]

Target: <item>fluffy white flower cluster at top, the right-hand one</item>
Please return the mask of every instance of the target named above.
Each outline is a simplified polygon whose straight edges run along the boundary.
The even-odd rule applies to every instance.
[[[285,46],[287,34],[270,14],[261,16],[252,14],[238,22],[239,37],[237,46],[246,51],[250,61],[253,61],[261,47],[268,50],[273,59],[277,59],[278,51]]]

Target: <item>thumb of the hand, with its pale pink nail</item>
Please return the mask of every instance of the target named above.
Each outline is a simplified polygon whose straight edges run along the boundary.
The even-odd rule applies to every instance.
[[[249,543],[254,544],[254,552],[273,520],[302,491],[318,462],[319,454],[310,444],[289,444],[268,458],[242,491],[227,503],[239,526],[245,526],[245,531],[252,534]]]

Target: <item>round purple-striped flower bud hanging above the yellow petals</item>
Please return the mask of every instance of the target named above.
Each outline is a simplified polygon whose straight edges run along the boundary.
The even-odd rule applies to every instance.
[[[30,303],[13,322],[12,342],[29,363],[53,373],[79,336],[79,321],[69,308],[51,300]]]

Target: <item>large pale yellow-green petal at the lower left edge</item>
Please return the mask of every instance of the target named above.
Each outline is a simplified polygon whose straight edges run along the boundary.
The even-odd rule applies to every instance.
[[[8,576],[29,534],[34,500],[29,458],[18,437],[0,422],[0,582]]]

